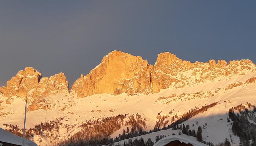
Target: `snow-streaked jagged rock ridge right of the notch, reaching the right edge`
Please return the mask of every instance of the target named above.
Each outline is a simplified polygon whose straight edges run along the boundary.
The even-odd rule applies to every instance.
[[[244,75],[252,72],[255,64],[248,59],[230,61],[216,61],[211,59],[206,63],[182,61],[169,52],[161,53],[156,59],[152,73],[153,93],[166,88],[183,88],[199,84],[200,82],[222,80],[224,77]]]

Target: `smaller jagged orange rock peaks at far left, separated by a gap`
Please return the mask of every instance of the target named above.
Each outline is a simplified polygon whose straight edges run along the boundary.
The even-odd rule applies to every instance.
[[[48,78],[32,67],[19,71],[15,77],[7,81],[6,87],[1,87],[4,96],[42,97],[53,94],[69,93],[68,81],[64,73],[55,74]]]

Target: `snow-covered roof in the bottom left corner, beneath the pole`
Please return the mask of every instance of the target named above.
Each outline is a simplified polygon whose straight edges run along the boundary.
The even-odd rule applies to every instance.
[[[12,143],[15,145],[22,145],[22,137],[18,137],[14,134],[11,134],[10,132],[7,132],[0,128],[0,141],[6,142],[6,143]],[[25,146],[37,146],[35,142],[29,141],[28,139],[25,139],[24,141]]]

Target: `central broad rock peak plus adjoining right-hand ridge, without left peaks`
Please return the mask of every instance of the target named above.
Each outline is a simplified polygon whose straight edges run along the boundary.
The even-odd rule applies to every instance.
[[[208,62],[191,63],[176,55],[160,53],[154,67],[147,60],[120,51],[112,51],[86,76],[76,80],[72,91],[77,97],[112,93],[156,93],[160,89],[183,88],[207,81],[223,80],[235,75],[255,72],[252,61],[210,59]]]

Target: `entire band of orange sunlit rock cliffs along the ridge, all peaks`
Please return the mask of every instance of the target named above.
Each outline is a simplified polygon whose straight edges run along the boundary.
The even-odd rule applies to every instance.
[[[112,51],[103,57],[101,63],[89,74],[86,76],[81,74],[72,86],[72,96],[73,93],[77,97],[101,93],[114,95],[156,93],[161,89],[190,87],[255,71],[256,65],[248,59],[229,61],[228,64],[225,60],[216,62],[214,59],[192,63],[165,52],[158,55],[153,66],[140,56]],[[247,82],[255,82],[255,78]],[[64,73],[42,78],[40,72],[27,67],[12,77],[6,87],[1,87],[0,93],[7,97],[38,99],[47,95],[68,94],[69,89]],[[36,109],[37,106],[31,107]]]

